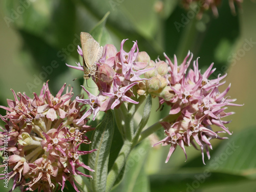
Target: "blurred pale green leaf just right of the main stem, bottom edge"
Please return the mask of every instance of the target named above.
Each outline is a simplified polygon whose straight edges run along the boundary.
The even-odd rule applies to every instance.
[[[126,161],[124,176],[121,183],[115,187],[112,192],[146,192],[150,191],[147,175],[144,170],[150,143],[142,142],[141,145],[132,150]]]

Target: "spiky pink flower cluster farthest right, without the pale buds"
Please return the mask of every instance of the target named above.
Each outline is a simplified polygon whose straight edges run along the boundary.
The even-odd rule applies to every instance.
[[[189,57],[190,56],[190,57]],[[218,76],[216,79],[209,80],[209,76],[214,73],[215,68],[212,69],[211,64],[206,69],[204,74],[201,74],[198,59],[193,62],[193,69],[189,69],[186,74],[186,70],[193,54],[188,52],[188,55],[183,60],[182,64],[178,66],[177,58],[174,57],[174,64],[165,55],[167,63],[169,64],[169,74],[165,77],[169,79],[168,86],[174,94],[170,100],[166,101],[160,98],[160,105],[166,102],[172,108],[169,114],[177,114],[178,118],[173,121],[173,124],[161,123],[165,128],[167,137],[159,141],[163,145],[170,145],[170,151],[168,153],[166,161],[169,160],[170,155],[174,152],[179,145],[185,153],[185,149],[182,147],[190,146],[192,144],[195,148],[196,144],[199,145],[203,163],[204,162],[204,150],[208,158],[210,158],[209,149],[212,149],[210,140],[225,139],[226,137],[220,137],[218,134],[231,132],[226,127],[226,124],[230,121],[223,121],[221,118],[233,114],[233,112],[225,112],[227,106],[241,106],[233,104],[236,101],[233,99],[225,98],[230,85],[222,93],[219,91],[219,87],[225,82],[221,82],[226,75]],[[189,60],[187,61],[187,59]],[[211,126],[216,125],[223,131],[213,131]],[[208,149],[209,148],[209,149]]]

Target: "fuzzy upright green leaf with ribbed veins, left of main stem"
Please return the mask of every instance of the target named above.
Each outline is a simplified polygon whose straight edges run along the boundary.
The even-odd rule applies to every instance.
[[[114,118],[109,110],[103,121],[96,127],[92,135],[90,150],[97,151],[89,154],[89,166],[95,171],[90,172],[93,191],[105,191],[106,177],[111,143],[114,135]]]

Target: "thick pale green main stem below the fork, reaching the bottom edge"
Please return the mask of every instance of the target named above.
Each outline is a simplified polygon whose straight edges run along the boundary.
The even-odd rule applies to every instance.
[[[115,163],[113,164],[112,169],[108,174],[108,178],[106,179],[106,192],[109,192],[115,184],[115,181],[122,171],[122,168],[131,152],[131,149],[132,143],[128,140],[125,140],[118,154],[118,157],[116,158]]]

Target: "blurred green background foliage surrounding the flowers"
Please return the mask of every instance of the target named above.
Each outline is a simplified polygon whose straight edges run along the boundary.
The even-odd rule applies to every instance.
[[[53,93],[66,82],[74,87],[75,95],[79,94],[83,73],[68,68],[65,63],[75,65],[79,61],[76,48],[80,44],[80,32],[90,32],[110,11],[105,29],[110,34],[108,43],[113,43],[118,51],[121,40],[126,38],[129,38],[126,51],[131,49],[132,41],[138,40],[139,50],[146,51],[152,60],[164,59],[165,52],[170,58],[176,54],[182,62],[190,50],[194,59],[200,57],[202,71],[211,62],[215,63],[217,70],[212,78],[228,73],[227,83],[221,89],[231,83],[228,95],[237,98],[236,103],[244,104],[228,108],[236,112],[227,118],[232,119],[228,127],[233,135],[228,136],[229,140],[213,142],[211,160],[206,165],[202,163],[200,151],[195,149],[186,148],[187,162],[183,152],[177,150],[165,164],[169,148],[153,148],[148,158],[141,158],[143,166],[136,167],[145,174],[135,182],[132,191],[256,191],[255,3],[245,1],[238,14],[232,15],[228,1],[222,1],[219,17],[209,10],[200,20],[194,11],[184,10],[180,1],[7,0],[0,3],[0,105],[7,106],[6,99],[13,99],[11,88],[32,97],[47,80]],[[73,81],[75,78],[78,80]],[[1,109],[0,113],[5,111]],[[230,145],[235,146],[231,154],[226,151]],[[127,177],[120,186],[129,181]],[[0,182],[0,188],[8,191]]]

